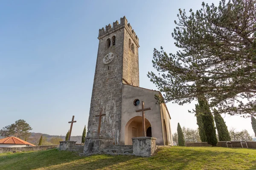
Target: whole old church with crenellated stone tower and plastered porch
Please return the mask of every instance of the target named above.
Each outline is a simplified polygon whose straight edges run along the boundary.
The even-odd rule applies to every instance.
[[[84,152],[132,145],[132,138],[140,136],[157,138],[157,145],[173,145],[171,116],[166,104],[155,99],[160,91],[140,87],[139,38],[130,23],[122,17],[120,23],[99,29],[98,39]]]

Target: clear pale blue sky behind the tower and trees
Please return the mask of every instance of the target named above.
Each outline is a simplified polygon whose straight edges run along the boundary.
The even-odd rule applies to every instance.
[[[215,3],[216,0],[207,0]],[[87,125],[98,50],[99,28],[124,15],[140,39],[140,86],[156,89],[147,78],[154,48],[174,53],[171,33],[178,9],[201,8],[202,0],[1,0],[0,128],[24,119],[33,132],[72,135]],[[190,105],[167,104],[172,131],[197,128]],[[224,116],[224,115],[223,115]],[[225,116],[227,126],[253,130],[250,119]]]

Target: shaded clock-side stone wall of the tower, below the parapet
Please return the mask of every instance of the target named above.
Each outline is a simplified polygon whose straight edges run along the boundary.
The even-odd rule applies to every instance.
[[[119,129],[122,102],[122,46],[123,31],[116,31],[99,40],[99,50],[96,61],[93,92],[90,105],[87,137],[96,137],[98,132],[99,115],[103,109],[100,136],[113,138],[115,130]],[[116,45],[107,47],[108,38],[116,36]],[[112,52],[114,59],[109,64],[103,63],[106,54]],[[119,133],[119,132],[117,132]]]

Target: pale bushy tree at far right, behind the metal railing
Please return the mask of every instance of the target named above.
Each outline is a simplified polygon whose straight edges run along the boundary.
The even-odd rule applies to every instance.
[[[247,130],[242,130],[241,132],[237,132],[234,127],[230,129],[230,137],[232,141],[252,141],[253,138],[250,136]]]

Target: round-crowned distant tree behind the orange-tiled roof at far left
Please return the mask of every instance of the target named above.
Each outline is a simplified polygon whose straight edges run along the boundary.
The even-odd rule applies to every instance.
[[[30,127],[25,120],[19,119],[15,121],[14,124],[3,127],[3,129],[0,130],[0,136],[15,136],[25,140],[26,137],[29,137],[31,135],[31,133],[29,133],[29,130],[32,130],[32,127]]]

